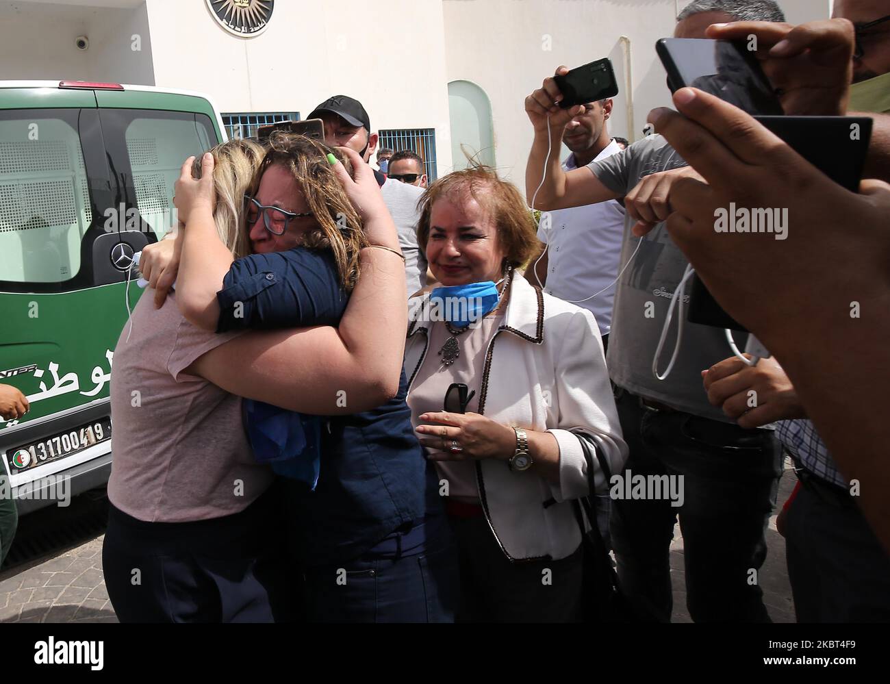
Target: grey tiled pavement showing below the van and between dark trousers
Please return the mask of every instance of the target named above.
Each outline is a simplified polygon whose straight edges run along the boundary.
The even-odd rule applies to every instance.
[[[779,506],[794,487],[791,470],[782,476]],[[767,530],[769,553],[760,571],[765,603],[773,622],[794,622],[794,607],[785,567],[785,542],[775,531],[775,516]],[[102,579],[98,537],[37,565],[0,580],[0,623],[116,623]],[[686,611],[683,538],[679,526],[671,544],[671,577],[674,582],[676,623],[691,622]]]

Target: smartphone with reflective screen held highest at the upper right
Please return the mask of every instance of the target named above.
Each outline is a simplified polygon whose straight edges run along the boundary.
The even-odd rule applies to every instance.
[[[662,38],[655,51],[667,71],[667,87],[676,93],[692,86],[740,110],[781,115],[781,102],[760,62],[747,44],[707,38]]]

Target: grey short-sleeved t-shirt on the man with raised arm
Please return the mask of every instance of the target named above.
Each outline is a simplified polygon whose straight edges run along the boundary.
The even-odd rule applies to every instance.
[[[650,135],[588,167],[603,185],[622,196],[634,189],[643,176],[684,167],[686,162],[661,135]],[[627,216],[621,245],[621,265],[642,240],[632,264],[622,273],[615,293],[609,338],[608,366],[612,381],[619,387],[680,411],[697,416],[733,422],[719,407],[708,403],[701,383],[701,371],[732,356],[724,330],[684,321],[683,339],[674,369],[667,379],[659,380],[652,373],[652,356],[659,343],[677,286],[689,262],[676,247],[661,223],[644,238],[636,238],[630,228],[634,220]],[[686,281],[684,305],[689,304],[691,280]],[[650,304],[651,303],[651,304]],[[686,316],[684,308],[683,315]],[[678,310],[667,331],[659,356],[658,370],[663,374],[676,343]],[[736,344],[743,346],[745,336],[736,334]]]

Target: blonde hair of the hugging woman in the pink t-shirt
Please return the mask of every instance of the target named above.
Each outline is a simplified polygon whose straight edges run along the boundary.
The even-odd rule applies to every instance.
[[[238,259],[250,254],[250,240],[241,225],[244,221],[244,193],[254,183],[266,148],[253,140],[236,138],[216,145],[209,152],[214,156],[216,232],[223,245],[231,252],[232,258]],[[192,162],[193,178],[201,177],[201,156],[198,155]]]

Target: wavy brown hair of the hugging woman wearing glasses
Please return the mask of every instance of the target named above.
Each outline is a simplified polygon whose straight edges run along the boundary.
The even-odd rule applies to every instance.
[[[251,195],[267,168],[273,165],[287,168],[319,224],[303,237],[302,246],[330,249],[340,281],[344,289],[351,291],[359,278],[359,252],[368,246],[368,239],[362,231],[359,213],[328,162],[328,153],[343,162],[350,175],[352,164],[341,152],[304,135],[275,131],[268,144],[269,151],[256,174]]]

